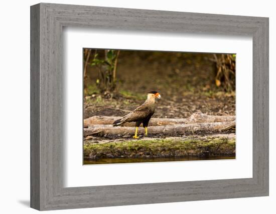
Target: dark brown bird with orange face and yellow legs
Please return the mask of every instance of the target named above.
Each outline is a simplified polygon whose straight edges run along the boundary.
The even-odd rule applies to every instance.
[[[143,123],[143,127],[145,128],[145,135],[148,135],[148,125],[151,117],[155,113],[156,109],[156,99],[160,99],[161,95],[157,91],[149,91],[147,100],[139,107],[134,109],[132,112],[123,116],[122,118],[115,120],[113,122],[113,126],[119,126],[126,122],[136,122],[135,124],[135,135],[133,138],[139,138],[137,136],[138,127]]]

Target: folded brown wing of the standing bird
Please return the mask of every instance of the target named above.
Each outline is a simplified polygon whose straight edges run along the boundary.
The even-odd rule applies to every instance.
[[[150,109],[147,105],[142,104],[141,106],[134,109],[129,114],[122,117],[122,122],[133,122],[137,120],[143,120],[150,114]]]

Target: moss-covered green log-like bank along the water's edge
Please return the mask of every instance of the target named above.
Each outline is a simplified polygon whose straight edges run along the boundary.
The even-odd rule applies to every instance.
[[[205,137],[189,139],[129,140],[84,143],[84,159],[153,158],[189,156],[235,156],[235,138]]]

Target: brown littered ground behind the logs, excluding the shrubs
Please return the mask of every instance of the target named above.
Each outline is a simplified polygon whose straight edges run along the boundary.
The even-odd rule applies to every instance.
[[[235,115],[235,93],[225,93],[215,86],[211,55],[169,53],[164,56],[121,52],[113,99],[98,96],[97,75],[90,68],[84,119],[96,115],[123,116],[141,105],[150,90],[161,94],[154,117],[186,118],[197,110],[208,115]]]

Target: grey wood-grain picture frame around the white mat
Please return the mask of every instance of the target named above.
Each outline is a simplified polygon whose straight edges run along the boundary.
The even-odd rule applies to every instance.
[[[253,177],[63,186],[63,27],[253,38]],[[39,210],[268,195],[268,18],[91,6],[31,6],[31,207]]]

